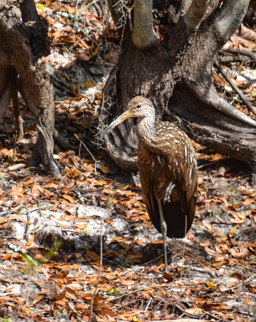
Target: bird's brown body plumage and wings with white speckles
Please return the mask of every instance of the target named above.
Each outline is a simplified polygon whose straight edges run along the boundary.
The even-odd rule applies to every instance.
[[[141,143],[138,147],[146,208],[155,228],[161,232],[157,199],[161,200],[167,236],[184,237],[191,227],[197,199],[195,150],[187,135],[174,125],[160,122],[156,130],[157,142],[151,142],[150,150]],[[164,201],[170,182],[175,187]]]

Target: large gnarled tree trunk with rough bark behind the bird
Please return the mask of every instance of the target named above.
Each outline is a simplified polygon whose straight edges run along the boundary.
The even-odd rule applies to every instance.
[[[131,98],[146,96],[154,102],[157,121],[175,122],[196,142],[246,161],[256,173],[256,122],[225,101],[211,78],[217,53],[242,21],[249,0],[153,0],[154,19],[147,2],[147,7],[143,0],[121,7],[119,0],[109,0],[123,40],[103,93],[102,127]],[[127,14],[123,27],[122,13]],[[137,170],[136,120],[110,132],[104,146],[120,167]]]

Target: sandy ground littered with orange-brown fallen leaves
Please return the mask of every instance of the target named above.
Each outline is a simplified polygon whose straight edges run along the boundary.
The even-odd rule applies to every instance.
[[[55,145],[61,179],[27,168],[35,120],[21,102],[26,136],[15,142],[8,108],[0,128],[0,320],[255,322],[256,189],[248,166],[195,143],[195,220],[186,238],[168,239],[170,274],[163,273],[162,235],[141,186],[110,171],[94,137],[118,56],[113,24],[85,7],[76,23],[72,2],[36,3],[49,21],[55,126],[74,149]],[[230,44],[241,46],[236,35]],[[229,92],[219,75],[215,82]]]

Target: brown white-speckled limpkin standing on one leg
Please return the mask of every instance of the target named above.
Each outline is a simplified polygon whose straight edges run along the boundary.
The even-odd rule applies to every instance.
[[[100,135],[127,118],[137,124],[138,164],[146,209],[154,227],[163,234],[164,269],[167,266],[166,236],[182,238],[189,231],[197,199],[197,161],[190,138],[170,122],[155,123],[154,105],[134,97],[128,109]]]

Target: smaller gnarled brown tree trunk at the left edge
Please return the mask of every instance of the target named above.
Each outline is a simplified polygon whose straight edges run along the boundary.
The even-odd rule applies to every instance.
[[[38,16],[33,0],[0,1],[0,118],[12,98],[18,137],[22,136],[17,101],[19,89],[24,100],[30,102],[29,107],[39,130],[28,165],[37,167],[41,163],[45,173],[60,177],[53,159],[53,88],[45,63],[41,60],[50,50],[47,33],[48,23]]]

